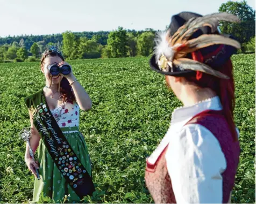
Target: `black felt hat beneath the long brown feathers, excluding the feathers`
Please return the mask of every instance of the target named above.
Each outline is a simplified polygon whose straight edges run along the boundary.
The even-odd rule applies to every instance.
[[[179,14],[174,15],[167,29],[169,36],[170,37],[173,36],[177,32],[177,30],[181,26],[186,24],[188,20],[191,20],[191,18],[196,19],[198,17],[202,17],[202,15],[197,13],[192,13],[192,12],[181,12]],[[197,37],[203,34],[223,35],[223,34],[220,34],[218,30],[212,33],[211,28],[209,26],[202,26],[200,27],[200,29],[197,29],[189,37],[188,40],[196,39]],[[228,37],[229,39],[234,39],[232,35],[223,35],[223,36]],[[226,45],[226,44],[214,44],[212,46],[202,48],[198,51],[200,51],[200,54],[203,58],[201,63],[204,63],[217,71],[221,65],[223,65],[228,59],[230,59],[231,55],[236,54],[237,48],[230,45]],[[191,54],[188,54],[187,56],[185,56],[185,58],[192,59]],[[169,71],[163,71],[162,69],[160,69],[158,65],[158,60],[159,59],[157,59],[156,55],[154,54],[150,59],[150,67],[152,70],[157,71],[161,74],[173,75],[173,76],[185,76],[188,74],[195,73],[195,70],[193,71],[193,70],[179,69],[179,66],[175,66],[175,65],[172,67],[172,69],[169,69]]]

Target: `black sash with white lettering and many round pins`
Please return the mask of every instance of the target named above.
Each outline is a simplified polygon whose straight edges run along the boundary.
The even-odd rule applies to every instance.
[[[34,126],[48,153],[68,184],[81,199],[92,195],[95,191],[93,180],[51,114],[43,90],[26,97],[25,103],[33,113]]]

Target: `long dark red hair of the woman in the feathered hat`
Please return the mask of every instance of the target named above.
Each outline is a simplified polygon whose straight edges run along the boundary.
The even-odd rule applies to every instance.
[[[200,52],[197,52],[197,54],[200,54]],[[192,55],[192,58],[195,61],[202,62],[202,59],[200,59],[200,55]],[[229,124],[233,140],[237,141],[237,131],[236,125],[234,124],[233,116],[235,99],[233,65],[231,60],[229,59],[223,65],[219,66],[218,71],[227,75],[230,79],[217,78],[199,71],[195,72],[196,74],[194,75],[188,75],[184,78],[189,82],[193,82],[199,87],[210,88],[216,92],[216,94],[219,96],[219,99],[221,100],[223,113],[227,120],[227,123]]]

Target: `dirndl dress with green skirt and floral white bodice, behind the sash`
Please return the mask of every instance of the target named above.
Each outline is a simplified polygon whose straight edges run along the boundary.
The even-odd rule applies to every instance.
[[[79,157],[82,165],[91,176],[91,161],[83,135],[79,132],[79,106],[76,103],[66,103],[51,111],[58,122],[61,131],[68,143]],[[60,203],[65,195],[69,195],[69,203],[80,201],[79,196],[66,182],[61,171],[53,162],[42,140],[38,146],[39,174],[41,179],[35,178],[33,202],[37,202],[42,193],[44,197],[50,197],[54,202]]]

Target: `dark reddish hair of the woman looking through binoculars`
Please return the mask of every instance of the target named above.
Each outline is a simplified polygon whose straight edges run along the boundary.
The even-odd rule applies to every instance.
[[[41,57],[41,64],[44,64],[44,60],[47,56],[51,57],[60,57],[63,61],[65,59],[63,58],[62,55],[60,55],[58,52],[47,52]],[[75,100],[74,94],[72,93],[72,87],[69,85],[69,82],[66,77],[63,77],[61,82],[60,82],[60,94],[62,97],[63,102],[70,102],[72,103]]]

